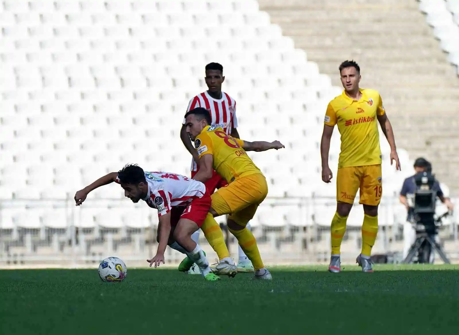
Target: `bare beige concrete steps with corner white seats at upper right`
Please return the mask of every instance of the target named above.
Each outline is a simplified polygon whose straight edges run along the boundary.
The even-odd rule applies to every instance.
[[[430,159],[438,178],[448,181],[453,194],[458,194],[459,165],[453,148],[458,141],[459,78],[448,59],[457,65],[459,28],[458,15],[454,24],[447,10],[457,11],[457,1],[259,3],[271,22],[294,39],[295,47],[306,50],[308,61],[330,75],[332,84],[340,85],[337,67],[341,61],[358,61],[362,85],[381,92],[397,145],[412,159]]]

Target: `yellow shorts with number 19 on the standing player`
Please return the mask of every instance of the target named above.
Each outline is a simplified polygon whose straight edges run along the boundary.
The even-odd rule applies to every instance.
[[[336,201],[354,203],[360,188],[359,203],[377,206],[382,195],[381,164],[338,168]]]

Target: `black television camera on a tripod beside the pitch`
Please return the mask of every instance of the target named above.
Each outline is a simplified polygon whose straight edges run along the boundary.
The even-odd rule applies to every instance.
[[[416,191],[408,203],[412,214],[412,224],[416,230],[416,240],[402,263],[411,263],[415,256],[417,256],[418,263],[429,263],[433,249],[437,251],[443,262],[449,264],[442,247],[435,241],[442,219],[448,216],[449,212],[435,218],[437,190],[434,189],[434,184],[438,182],[435,175],[429,170],[414,175]]]

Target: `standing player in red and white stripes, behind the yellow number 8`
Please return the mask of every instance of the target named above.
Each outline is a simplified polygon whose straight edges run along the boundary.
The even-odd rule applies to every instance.
[[[223,75],[223,66],[218,63],[209,63],[206,65],[206,85],[207,91],[204,91],[190,100],[186,112],[189,112],[196,107],[206,108],[212,117],[212,127],[223,128],[226,134],[232,137],[239,138],[237,131],[237,117],[236,117],[236,101],[229,96],[228,93],[222,92],[222,84],[225,80]],[[186,149],[193,156],[191,160],[191,178],[194,178],[199,170],[199,166],[196,162],[199,162],[196,149],[193,147],[192,142],[185,128],[185,119],[183,120],[183,126],[180,131],[180,138],[185,145]],[[213,171],[212,178],[207,180],[207,190],[212,194],[216,189],[226,186],[226,181]],[[250,223],[247,224],[247,229],[250,230]],[[193,240],[197,241],[199,238],[199,231],[193,236]],[[239,246],[239,262],[237,264],[239,272],[252,272],[253,266],[250,260],[247,258],[241,246]],[[189,272],[190,273],[190,272]]]

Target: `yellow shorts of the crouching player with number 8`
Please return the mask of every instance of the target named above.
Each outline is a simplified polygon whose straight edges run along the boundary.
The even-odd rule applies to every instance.
[[[211,195],[212,208],[218,215],[230,214],[229,219],[241,226],[252,220],[258,206],[268,195],[268,183],[261,173],[236,179]]]

